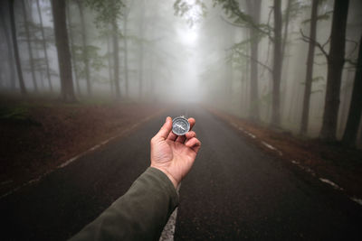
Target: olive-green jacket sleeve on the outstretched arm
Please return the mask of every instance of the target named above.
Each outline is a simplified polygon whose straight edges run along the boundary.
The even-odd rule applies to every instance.
[[[158,240],[177,205],[178,195],[167,175],[149,167],[122,197],[71,241]]]

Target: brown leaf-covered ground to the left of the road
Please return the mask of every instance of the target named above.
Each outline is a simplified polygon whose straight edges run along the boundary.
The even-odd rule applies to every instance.
[[[162,110],[135,103],[0,100],[0,196]]]

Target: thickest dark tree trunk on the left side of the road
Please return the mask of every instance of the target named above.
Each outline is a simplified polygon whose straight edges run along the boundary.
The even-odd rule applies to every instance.
[[[52,1],[55,44],[58,51],[58,64],[62,83],[62,99],[66,102],[75,101],[73,81],[71,77],[71,52],[69,50],[68,32],[66,26],[66,1]]]

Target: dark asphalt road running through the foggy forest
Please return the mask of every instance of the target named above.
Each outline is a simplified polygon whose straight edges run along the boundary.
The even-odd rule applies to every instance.
[[[167,112],[170,116],[184,110]],[[166,115],[166,114],[165,114]],[[362,208],[248,142],[202,108],[202,149],[182,182],[176,240],[362,240]],[[166,116],[0,199],[2,240],[64,240],[129,189]],[[5,237],[5,238],[4,238]]]

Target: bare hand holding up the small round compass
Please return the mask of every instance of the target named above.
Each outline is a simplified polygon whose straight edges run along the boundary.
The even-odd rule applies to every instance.
[[[189,118],[188,122],[191,130],[195,119]],[[172,119],[167,117],[165,124],[151,139],[151,167],[163,171],[177,188],[194,164],[201,143],[193,131],[178,136],[171,130]]]

